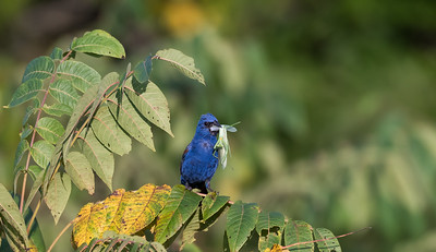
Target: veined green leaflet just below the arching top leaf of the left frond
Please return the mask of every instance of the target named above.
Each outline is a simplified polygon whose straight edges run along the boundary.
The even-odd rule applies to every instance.
[[[59,64],[57,73],[61,79],[71,80],[73,86],[82,93],[101,81],[101,76],[96,70],[80,61],[62,62]]]

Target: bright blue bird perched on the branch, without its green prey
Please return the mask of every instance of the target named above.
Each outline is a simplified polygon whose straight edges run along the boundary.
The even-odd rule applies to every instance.
[[[195,135],[183,153],[180,164],[180,182],[186,189],[199,189],[207,193],[210,179],[218,167],[218,156],[214,154],[214,146],[217,143],[217,133],[221,124],[211,115],[202,115]]]

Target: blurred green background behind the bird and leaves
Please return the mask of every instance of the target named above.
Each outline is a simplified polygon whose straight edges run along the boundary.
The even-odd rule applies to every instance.
[[[117,158],[114,189],[179,182],[196,121],[213,112],[232,157],[211,185],[340,235],[344,251],[436,251],[436,1],[16,0],[0,3],[0,104],[25,65],[102,28],[126,60],[82,57],[101,75],[175,48],[195,59],[204,87],[168,65],[152,80],[166,94],[174,139],[155,129],[156,153],[136,143]],[[25,106],[0,110],[0,178],[12,189]],[[80,207],[109,194],[73,190],[60,224],[38,219],[47,247]],[[221,251],[223,221],[197,236]],[[64,235],[57,251],[69,251]]]

